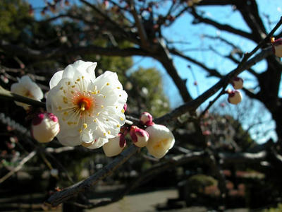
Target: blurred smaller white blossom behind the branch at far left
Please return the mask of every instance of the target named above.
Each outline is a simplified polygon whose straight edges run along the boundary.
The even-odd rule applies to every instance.
[[[29,76],[18,78],[18,83],[12,84],[11,92],[37,101],[40,101],[43,98],[43,92],[41,88],[39,88],[39,86],[37,86],[37,84],[33,82]],[[15,103],[16,105],[23,107],[25,110],[27,110],[30,106],[22,102]]]

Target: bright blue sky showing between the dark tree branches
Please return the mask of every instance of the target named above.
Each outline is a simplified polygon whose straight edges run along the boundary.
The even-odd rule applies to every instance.
[[[43,0],[30,0],[29,2],[35,8],[44,6]],[[77,0],[71,2],[76,2],[78,4]],[[258,0],[257,2],[259,4],[259,11],[266,25],[266,29],[271,30],[271,28],[273,28],[273,26],[278,22],[280,16],[282,15],[281,0]],[[204,16],[207,16],[208,18],[219,20],[221,23],[233,25],[234,28],[239,28],[241,30],[250,32],[249,28],[247,28],[247,25],[245,25],[243,18],[241,18],[240,13],[238,13],[237,11],[233,11],[231,6],[221,6],[221,7],[205,6],[205,7],[201,7],[200,9],[204,11]],[[36,15],[38,15],[40,10],[37,10],[35,12]],[[269,25],[269,23],[267,23],[266,18],[264,18],[264,14],[269,15],[270,20],[273,22],[272,24]],[[171,25],[170,28],[164,30],[164,35],[166,36],[166,38],[168,38],[168,40],[189,42],[189,45],[175,45],[175,46],[181,50],[197,49],[193,51],[188,51],[186,53],[190,57],[202,61],[202,63],[208,67],[216,68],[222,74],[226,74],[232,69],[235,69],[236,67],[235,64],[231,63],[230,61],[227,61],[226,59],[222,59],[219,56],[215,56],[214,54],[211,54],[209,50],[203,50],[203,49],[208,49],[209,46],[212,45],[213,47],[216,47],[216,50],[221,52],[221,54],[228,54],[231,48],[228,47],[227,45],[224,45],[220,41],[214,41],[214,40],[209,40],[208,38],[204,38],[203,35],[212,35],[212,36],[220,35],[221,37],[225,37],[226,40],[229,40],[233,42],[235,45],[238,45],[245,52],[250,52],[255,47],[254,43],[250,42],[249,40],[242,39],[242,37],[238,37],[230,33],[219,31],[216,28],[204,24],[192,25],[191,23],[192,23],[192,17],[189,16],[187,13],[185,13],[183,16],[180,16],[180,18],[178,18],[175,21],[175,23]],[[161,66],[161,64],[159,64],[158,61],[148,57],[134,57],[134,61],[136,62],[136,64],[135,66],[133,66],[133,69],[137,69],[138,66],[142,66],[145,68],[156,67],[161,72],[161,76],[164,81],[164,91],[171,102],[171,107],[177,107],[183,103],[176,86],[173,84],[173,81],[168,76],[168,74]],[[188,61],[180,59],[179,57],[173,57],[173,62],[174,64],[176,64],[176,68],[178,69],[179,75],[182,78],[188,79],[186,85],[190,90],[190,93],[193,98],[196,98],[197,95],[204,93],[205,90],[209,89],[217,81],[219,81],[218,78],[214,78],[214,77],[207,78],[206,77],[207,73],[204,70],[200,69],[198,66],[188,63]],[[195,78],[198,83],[198,90],[194,86],[195,80],[191,70],[188,69],[188,64],[192,67],[192,71],[195,73]],[[263,71],[264,68],[265,68],[264,61],[259,62],[254,66],[254,69],[256,69],[257,71]],[[250,75],[245,71],[241,73],[240,76],[245,80],[244,83],[245,88],[253,88],[255,86],[256,84],[255,78],[253,78],[252,75]],[[198,93],[198,91],[200,93]],[[219,102],[227,103],[226,98],[227,98],[226,96],[223,96],[219,100]],[[243,95],[243,98],[245,98],[245,95]],[[204,105],[207,105],[207,103]],[[231,110],[237,110],[240,107],[241,107],[240,105],[238,106],[232,105]],[[262,104],[260,104],[259,102],[255,102],[255,107],[253,110],[257,112],[257,110],[259,110],[260,107],[262,107]],[[264,114],[264,119],[266,121],[271,119],[270,114],[266,112],[266,114]],[[269,127],[269,129],[274,129],[275,127],[274,122],[268,122],[268,123],[269,124],[266,127]],[[245,128],[247,128],[249,124],[250,123],[247,123],[246,120],[243,122],[243,126],[245,126]],[[269,136],[274,137],[274,139],[276,138],[275,133],[273,131],[269,134]],[[264,136],[264,138],[261,139],[261,141],[259,142],[261,143],[266,141],[266,139],[268,139],[269,136]]]

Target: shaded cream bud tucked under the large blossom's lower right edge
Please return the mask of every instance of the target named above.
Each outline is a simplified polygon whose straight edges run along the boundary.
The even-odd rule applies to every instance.
[[[123,151],[126,141],[123,134],[118,134],[114,139],[109,139],[103,146],[103,151],[107,157],[114,157]]]

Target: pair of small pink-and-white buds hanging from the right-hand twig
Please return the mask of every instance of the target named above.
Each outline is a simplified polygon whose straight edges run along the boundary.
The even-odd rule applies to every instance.
[[[242,101],[242,94],[240,93],[239,89],[243,88],[243,83],[243,78],[240,78],[238,76],[233,77],[231,84],[235,90],[226,90],[229,103],[237,105]]]

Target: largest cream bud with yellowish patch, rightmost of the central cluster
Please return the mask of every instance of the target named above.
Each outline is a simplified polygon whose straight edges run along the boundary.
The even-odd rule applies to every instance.
[[[146,129],[149,134],[147,150],[155,158],[162,158],[174,145],[172,132],[164,125],[153,124]]]

